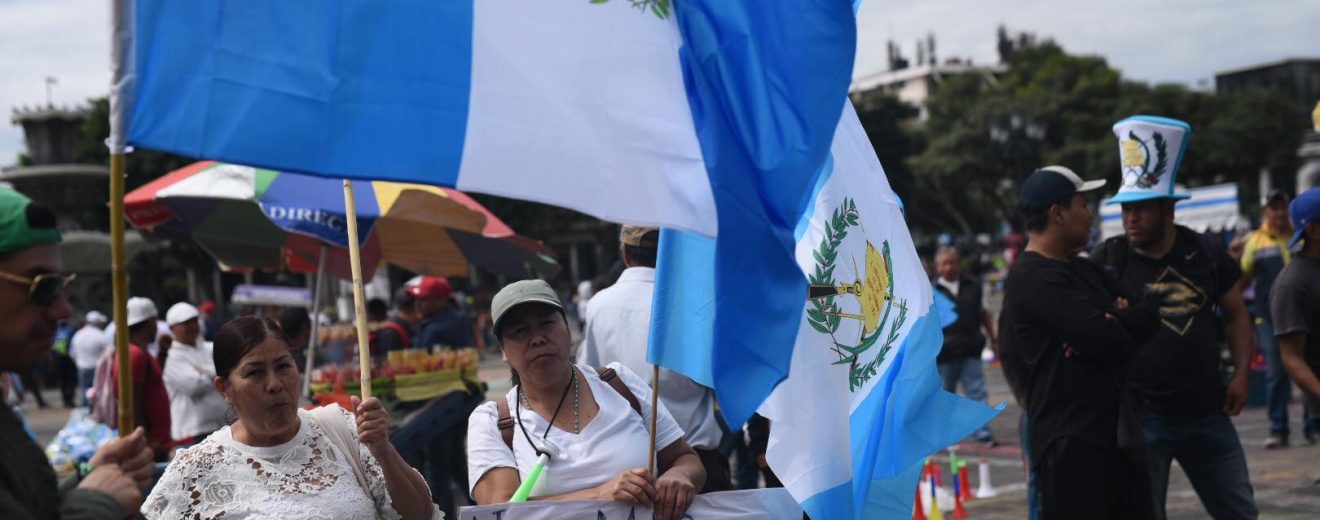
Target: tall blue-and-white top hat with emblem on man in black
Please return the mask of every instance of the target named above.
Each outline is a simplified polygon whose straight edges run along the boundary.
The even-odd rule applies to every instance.
[[[1118,137],[1123,183],[1107,203],[1191,198],[1176,191],[1173,182],[1192,137],[1192,125],[1168,117],[1131,116],[1114,123],[1114,136]]]

